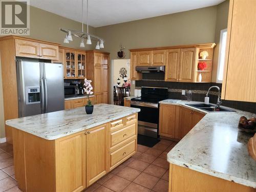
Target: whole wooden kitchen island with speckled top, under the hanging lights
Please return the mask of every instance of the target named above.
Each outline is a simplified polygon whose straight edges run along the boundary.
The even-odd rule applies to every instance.
[[[7,120],[23,191],[81,191],[137,151],[139,109],[110,104]]]

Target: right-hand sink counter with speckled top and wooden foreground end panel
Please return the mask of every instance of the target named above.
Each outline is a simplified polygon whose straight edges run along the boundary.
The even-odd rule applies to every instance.
[[[241,116],[255,117],[255,114],[236,109],[232,109],[236,112],[207,113],[186,105],[202,103],[196,101],[168,99],[160,103],[205,114],[167,154],[169,191],[256,191],[256,161],[247,150],[253,134],[238,129]]]

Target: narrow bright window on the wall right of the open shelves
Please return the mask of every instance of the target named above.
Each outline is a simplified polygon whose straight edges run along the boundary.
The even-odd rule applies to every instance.
[[[224,73],[224,61],[227,42],[227,29],[221,30],[217,82],[222,82]]]

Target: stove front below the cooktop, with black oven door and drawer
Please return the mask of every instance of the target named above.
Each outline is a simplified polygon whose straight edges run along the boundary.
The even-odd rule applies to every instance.
[[[138,113],[138,134],[157,138],[159,121],[158,104],[131,101],[131,107],[140,109]]]

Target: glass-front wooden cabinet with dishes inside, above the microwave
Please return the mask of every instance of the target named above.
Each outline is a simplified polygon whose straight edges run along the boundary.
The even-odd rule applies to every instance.
[[[65,79],[86,77],[86,53],[65,50]]]

